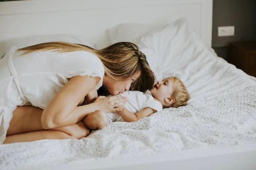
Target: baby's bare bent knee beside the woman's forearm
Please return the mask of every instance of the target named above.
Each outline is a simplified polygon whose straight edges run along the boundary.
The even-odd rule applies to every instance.
[[[105,112],[97,110],[88,114],[83,122],[89,129],[102,129],[108,124],[108,116]]]

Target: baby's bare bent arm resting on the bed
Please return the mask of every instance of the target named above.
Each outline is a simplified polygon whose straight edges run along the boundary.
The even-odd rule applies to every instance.
[[[132,113],[128,111],[124,106],[119,106],[117,108],[123,108],[125,111],[119,111],[119,115],[124,119],[125,122],[137,122],[138,120],[150,116],[151,114],[157,112],[151,108],[143,108],[137,113]]]

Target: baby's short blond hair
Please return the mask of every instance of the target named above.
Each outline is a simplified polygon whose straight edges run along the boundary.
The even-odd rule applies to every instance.
[[[189,92],[186,89],[183,82],[177,77],[171,77],[173,79],[173,92],[172,97],[175,98],[175,102],[170,107],[178,108],[185,106],[190,99]]]

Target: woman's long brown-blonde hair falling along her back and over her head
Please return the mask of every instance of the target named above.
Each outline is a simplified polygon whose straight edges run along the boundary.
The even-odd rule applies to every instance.
[[[145,92],[151,89],[155,82],[155,75],[148,65],[145,54],[131,42],[117,42],[101,50],[70,42],[46,42],[20,48],[17,51],[24,51],[23,54],[28,54],[38,50],[53,50],[60,53],[90,52],[99,57],[104,65],[105,74],[116,82],[131,79],[140,73],[140,77],[131,84],[130,90]]]

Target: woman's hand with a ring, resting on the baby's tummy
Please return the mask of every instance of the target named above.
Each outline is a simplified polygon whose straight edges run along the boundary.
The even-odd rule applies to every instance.
[[[124,96],[99,96],[95,100],[95,104],[97,105],[97,110],[104,111],[104,112],[118,112],[124,111],[123,108],[116,108],[118,106],[122,106],[127,102],[126,97]]]

